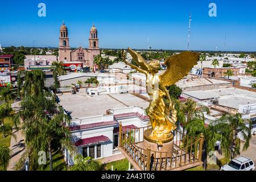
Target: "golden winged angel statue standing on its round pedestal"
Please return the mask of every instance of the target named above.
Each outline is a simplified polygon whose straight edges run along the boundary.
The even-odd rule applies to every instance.
[[[167,70],[158,75],[159,61],[147,63],[139,53],[128,48],[128,52],[138,67],[128,63],[123,57],[123,62],[138,72],[146,75],[146,87],[150,96],[150,105],[147,114],[150,118],[152,129],[144,132],[144,138],[154,143],[170,142],[173,138],[172,131],[176,129],[176,110],[166,86],[175,84],[188,75],[193,65],[199,60],[199,53],[185,51],[164,60]]]

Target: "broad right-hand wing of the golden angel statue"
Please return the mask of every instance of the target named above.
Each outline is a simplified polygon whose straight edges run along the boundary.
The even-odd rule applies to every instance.
[[[167,70],[160,75],[160,80],[165,86],[175,84],[188,75],[193,65],[197,64],[200,53],[185,51],[164,60]]]

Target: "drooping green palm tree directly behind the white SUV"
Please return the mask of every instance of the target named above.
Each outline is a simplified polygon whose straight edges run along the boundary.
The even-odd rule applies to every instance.
[[[242,150],[250,145],[251,121],[242,119],[241,114],[224,114],[220,119],[212,123],[213,131],[222,135],[221,143],[225,143],[224,150],[226,159],[233,159],[240,154],[241,139],[244,141]],[[238,137],[238,134],[240,137]]]

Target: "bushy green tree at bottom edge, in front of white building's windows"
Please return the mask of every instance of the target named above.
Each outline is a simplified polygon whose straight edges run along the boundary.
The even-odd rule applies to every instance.
[[[82,155],[75,156],[75,164],[70,168],[71,171],[101,171],[104,165],[91,157],[83,158]]]

